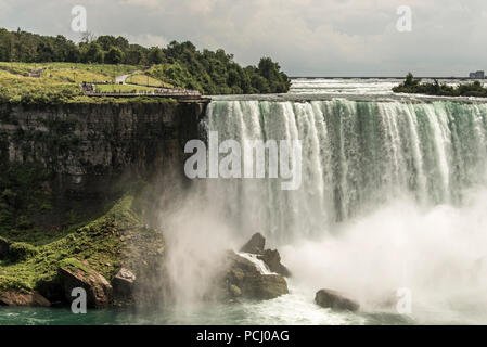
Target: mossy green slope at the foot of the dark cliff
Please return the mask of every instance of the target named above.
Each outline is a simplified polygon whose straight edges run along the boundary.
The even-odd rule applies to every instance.
[[[132,261],[129,257],[149,257],[148,245],[162,249],[162,235],[142,222],[136,195],[127,193],[100,217],[71,227],[18,234],[0,230],[0,242],[10,243],[8,257],[0,260],[0,290],[43,292],[55,285],[57,269],[76,259],[110,280]]]

